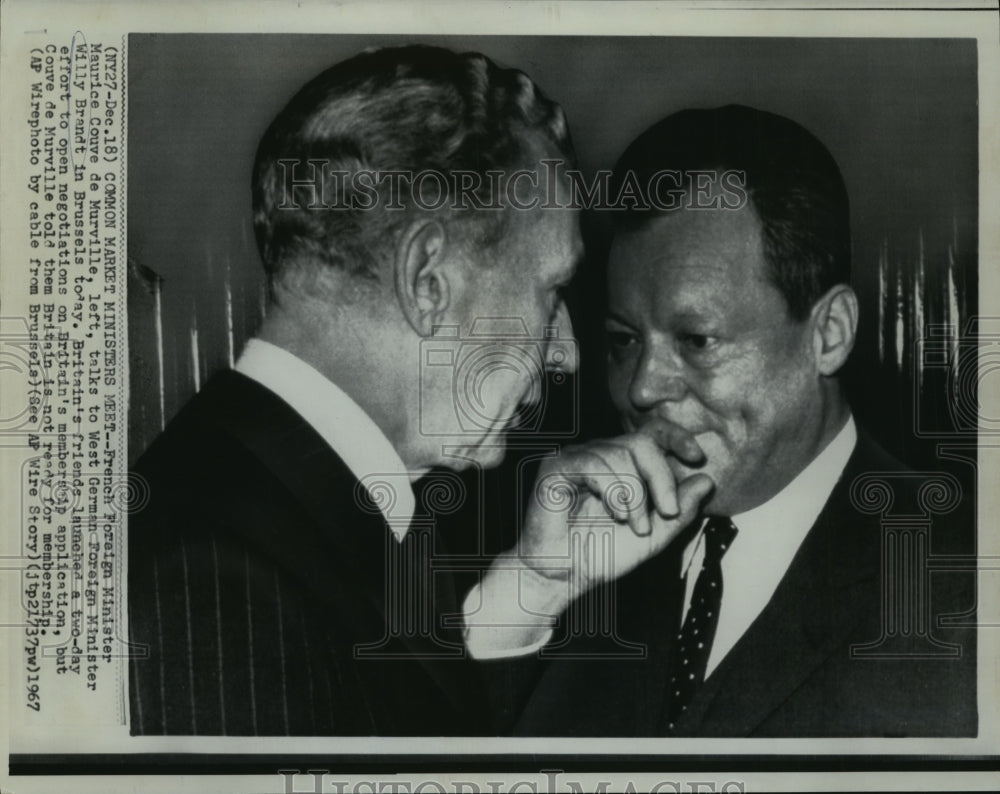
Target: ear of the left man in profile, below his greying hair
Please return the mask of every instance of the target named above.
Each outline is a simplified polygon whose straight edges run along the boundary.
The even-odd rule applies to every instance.
[[[434,220],[411,223],[396,248],[396,299],[407,321],[421,336],[430,336],[451,303],[452,285],[444,226]]]

